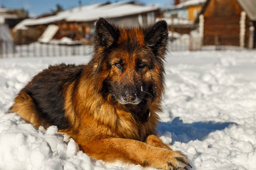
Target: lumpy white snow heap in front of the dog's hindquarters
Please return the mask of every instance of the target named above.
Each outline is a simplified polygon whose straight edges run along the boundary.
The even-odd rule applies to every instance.
[[[79,151],[73,139],[66,142],[56,126],[36,130],[14,113],[0,124],[0,169],[105,169],[103,162]]]

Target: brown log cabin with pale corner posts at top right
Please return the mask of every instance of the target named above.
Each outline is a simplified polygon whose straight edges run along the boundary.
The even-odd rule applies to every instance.
[[[207,0],[196,22],[203,45],[255,48],[255,0]]]

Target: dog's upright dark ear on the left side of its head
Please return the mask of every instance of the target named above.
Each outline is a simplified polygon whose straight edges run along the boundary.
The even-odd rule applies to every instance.
[[[95,41],[98,45],[109,47],[118,40],[119,30],[109,24],[104,18],[100,18],[96,22]]]

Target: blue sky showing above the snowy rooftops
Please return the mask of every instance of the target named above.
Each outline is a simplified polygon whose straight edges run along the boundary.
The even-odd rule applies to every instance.
[[[82,5],[90,5],[93,3],[106,2],[108,0],[81,0]],[[121,1],[121,0],[119,0]],[[173,0],[139,0],[146,5],[158,4],[160,6],[171,5]],[[109,2],[117,2],[117,0],[109,0]],[[0,0],[0,6],[6,8],[24,8],[29,12],[30,16],[38,16],[43,13],[51,12],[51,9],[59,3],[64,9],[77,7],[79,0]]]

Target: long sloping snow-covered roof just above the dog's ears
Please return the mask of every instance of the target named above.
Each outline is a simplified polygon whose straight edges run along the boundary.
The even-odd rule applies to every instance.
[[[116,18],[155,11],[158,9],[159,7],[156,6],[134,5],[130,1],[117,3],[97,3],[94,5],[87,5],[65,10],[59,12],[57,15],[52,15],[45,18],[28,19],[26,22],[19,23],[15,29],[26,28],[26,26],[30,25],[49,24],[61,20],[66,20],[69,22],[88,22],[97,20],[100,17]]]

